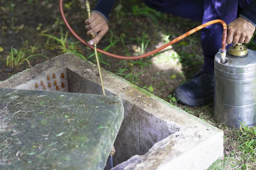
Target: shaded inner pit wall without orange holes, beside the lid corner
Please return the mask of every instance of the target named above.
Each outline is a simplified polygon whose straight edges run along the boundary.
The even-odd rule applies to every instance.
[[[85,94],[102,94],[101,86],[81,77],[78,73],[67,68],[69,92]],[[107,95],[113,96],[111,91]],[[124,100],[125,116],[116,137],[113,157],[114,166],[126,161],[134,155],[143,155],[157,142],[177,132],[179,127],[161,120],[144,111],[137,105]]]

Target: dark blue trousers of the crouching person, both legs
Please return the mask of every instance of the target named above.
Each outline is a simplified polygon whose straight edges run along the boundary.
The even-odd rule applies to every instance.
[[[236,20],[238,6],[244,8],[252,0],[145,0],[145,4],[156,10],[201,21],[224,20],[226,24]],[[202,69],[214,74],[214,56],[221,47],[223,26],[219,23],[201,30],[204,54]],[[229,46],[227,46],[227,49]]]

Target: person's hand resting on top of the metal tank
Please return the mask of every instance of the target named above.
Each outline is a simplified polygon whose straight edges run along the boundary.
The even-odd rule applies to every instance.
[[[255,26],[243,17],[239,17],[227,26],[227,44],[248,43],[255,31]]]

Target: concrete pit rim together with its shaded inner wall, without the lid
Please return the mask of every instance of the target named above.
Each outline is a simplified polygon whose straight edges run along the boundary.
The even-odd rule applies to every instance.
[[[29,84],[63,69],[67,71],[68,91],[101,93],[97,66],[72,54],[12,76],[0,82],[0,88],[31,88]],[[113,169],[205,170],[223,156],[222,130],[104,69],[102,75],[107,95],[121,96],[125,107],[115,142],[115,163],[132,156]]]

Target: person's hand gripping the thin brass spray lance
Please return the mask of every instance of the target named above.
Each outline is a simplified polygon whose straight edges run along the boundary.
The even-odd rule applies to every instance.
[[[91,36],[97,34],[95,38],[88,41],[88,44],[93,45],[98,43],[99,40],[108,32],[108,22],[102,14],[92,11],[91,17],[85,21],[85,29],[87,30],[87,35]]]

